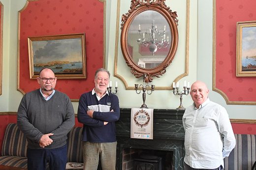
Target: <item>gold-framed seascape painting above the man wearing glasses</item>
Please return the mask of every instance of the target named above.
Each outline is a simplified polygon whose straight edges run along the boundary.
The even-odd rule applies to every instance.
[[[47,67],[58,78],[86,78],[85,33],[28,37],[30,78]]]

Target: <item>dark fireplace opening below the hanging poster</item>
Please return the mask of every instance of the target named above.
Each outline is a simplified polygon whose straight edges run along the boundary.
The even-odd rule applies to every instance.
[[[123,170],[174,170],[173,151],[123,148]]]

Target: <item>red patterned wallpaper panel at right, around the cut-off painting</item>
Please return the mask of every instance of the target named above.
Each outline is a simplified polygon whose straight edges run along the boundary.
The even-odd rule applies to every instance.
[[[229,101],[256,101],[256,77],[236,77],[236,23],[256,21],[256,0],[216,0],[216,88]]]

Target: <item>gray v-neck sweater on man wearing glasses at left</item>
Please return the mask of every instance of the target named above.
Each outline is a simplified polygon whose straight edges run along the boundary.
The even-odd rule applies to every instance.
[[[40,149],[43,134],[53,133],[53,143],[44,149],[53,149],[66,144],[66,135],[75,124],[72,103],[64,93],[55,94],[45,100],[39,89],[27,93],[21,100],[17,113],[17,124],[28,140],[28,147]]]

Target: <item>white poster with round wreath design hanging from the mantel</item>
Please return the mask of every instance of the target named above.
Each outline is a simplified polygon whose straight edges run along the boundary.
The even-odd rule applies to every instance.
[[[131,109],[130,138],[153,139],[153,112],[154,109]]]

